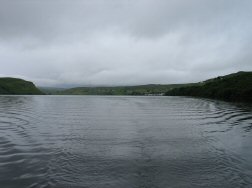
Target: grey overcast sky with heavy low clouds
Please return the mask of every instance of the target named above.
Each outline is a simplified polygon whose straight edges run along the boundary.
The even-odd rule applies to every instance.
[[[40,86],[252,70],[251,0],[0,0],[0,76]]]

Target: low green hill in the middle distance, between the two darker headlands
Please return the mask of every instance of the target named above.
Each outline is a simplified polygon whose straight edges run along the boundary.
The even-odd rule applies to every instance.
[[[77,87],[58,91],[60,95],[164,95],[170,89],[186,86],[188,84],[159,85],[149,84],[140,86],[118,87]],[[191,85],[191,84],[189,84]]]

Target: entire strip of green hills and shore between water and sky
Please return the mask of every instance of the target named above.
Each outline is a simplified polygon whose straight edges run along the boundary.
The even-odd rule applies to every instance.
[[[198,83],[139,86],[36,87],[18,78],[0,78],[0,95],[191,96],[252,102],[252,72],[237,72]]]

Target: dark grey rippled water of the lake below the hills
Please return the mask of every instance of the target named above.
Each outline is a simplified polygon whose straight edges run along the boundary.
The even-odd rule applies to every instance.
[[[212,100],[0,96],[0,187],[252,187],[251,129]]]

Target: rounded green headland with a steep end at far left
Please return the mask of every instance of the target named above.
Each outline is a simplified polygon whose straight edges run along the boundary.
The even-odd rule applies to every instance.
[[[42,95],[32,82],[18,78],[0,78],[1,95]]]

